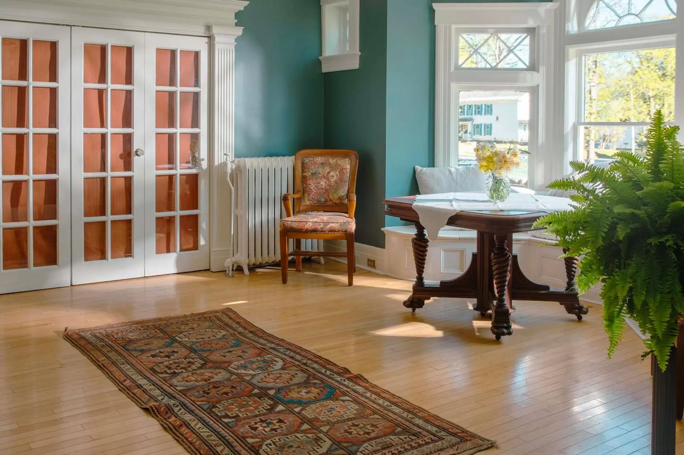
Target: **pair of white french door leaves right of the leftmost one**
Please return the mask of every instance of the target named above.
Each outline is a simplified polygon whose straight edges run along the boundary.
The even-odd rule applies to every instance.
[[[73,27],[73,284],[208,268],[207,51]]]

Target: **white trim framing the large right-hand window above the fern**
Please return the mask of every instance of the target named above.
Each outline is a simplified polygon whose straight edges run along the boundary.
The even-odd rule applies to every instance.
[[[564,105],[563,119],[556,119],[557,131],[566,133],[562,143],[563,156],[558,156],[564,163],[562,175],[569,174],[570,161],[580,158],[579,127],[581,125],[620,126],[618,122],[584,122],[583,121],[583,64],[584,55],[591,53],[608,53],[637,49],[655,49],[675,47],[683,51],[676,52],[674,124],[684,126],[684,14],[681,12],[672,20],[663,20],[640,25],[625,25],[591,31],[569,33],[568,15],[573,14],[575,2],[570,0],[566,8],[561,8],[557,15],[558,52],[565,59],[557,59],[556,83],[565,87],[564,99],[559,99],[559,107]],[[565,32],[562,32],[565,31]],[[572,100],[572,102],[570,102]],[[650,122],[629,122],[624,126],[648,126]],[[680,131],[680,141],[684,133]],[[561,145],[561,144],[559,144]],[[559,178],[562,175],[556,176]]]

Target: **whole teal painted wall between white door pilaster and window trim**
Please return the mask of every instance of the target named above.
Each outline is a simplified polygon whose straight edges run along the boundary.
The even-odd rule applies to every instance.
[[[448,1],[360,0],[360,68],[322,74],[319,1],[251,0],[237,14],[235,156],[356,150],[356,241],[384,247],[400,221],[382,199],[416,193],[413,166],[434,161],[432,3]]]

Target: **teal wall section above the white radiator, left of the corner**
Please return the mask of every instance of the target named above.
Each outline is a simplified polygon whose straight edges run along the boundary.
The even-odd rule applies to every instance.
[[[321,5],[250,0],[235,16],[235,156],[323,145]]]

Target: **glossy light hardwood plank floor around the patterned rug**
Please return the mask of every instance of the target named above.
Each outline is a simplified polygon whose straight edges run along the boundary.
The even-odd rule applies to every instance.
[[[650,374],[627,330],[606,359],[600,307],[582,322],[553,303],[516,303],[496,342],[465,300],[402,307],[410,283],[342,264],[189,273],[0,296],[1,454],[182,454],[183,448],[62,340],[64,327],[231,307],[267,331],[469,430],[486,454],[648,454]],[[678,424],[677,454],[684,454]]]

